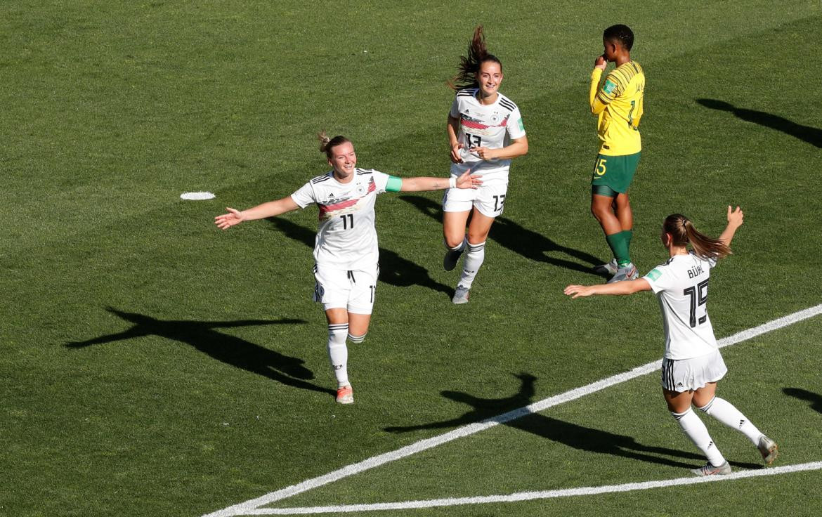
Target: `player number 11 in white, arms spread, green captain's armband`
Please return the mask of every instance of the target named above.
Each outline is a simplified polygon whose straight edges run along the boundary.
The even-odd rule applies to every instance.
[[[466,170],[451,178],[396,178],[373,169],[357,168],[353,144],[344,136],[318,135],[332,170],[307,182],[291,196],[248,210],[228,208],[215,217],[220,229],[242,221],[274,217],[316,204],[320,227],[314,247],[314,300],[328,320],[328,355],[337,379],[337,402],[353,403],[345,341],[362,343],[371,321],[376,291],[378,247],[374,201],[383,192],[420,192],[444,188],[477,188],[482,180]]]

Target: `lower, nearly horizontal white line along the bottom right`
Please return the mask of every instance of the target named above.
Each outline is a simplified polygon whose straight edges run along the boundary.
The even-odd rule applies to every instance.
[[[249,515],[306,515],[306,514],[341,514],[354,511],[377,510],[413,510],[418,508],[434,508],[436,506],[458,505],[487,505],[490,503],[510,503],[517,501],[533,501],[536,499],[556,499],[557,497],[595,496],[614,492],[632,492],[635,490],[649,490],[651,488],[681,487],[704,482],[730,481],[732,479],[758,478],[760,476],[775,476],[794,472],[822,469],[822,461],[812,463],[787,465],[774,469],[742,470],[727,476],[704,476],[697,478],[662,479],[659,481],[645,481],[625,483],[623,485],[606,485],[603,487],[563,488],[560,490],[543,490],[539,492],[516,492],[505,496],[473,496],[451,497],[447,499],[429,499],[427,501],[400,501],[391,503],[372,503],[369,505],[336,505],[336,506],[309,506],[305,508],[257,508]]]

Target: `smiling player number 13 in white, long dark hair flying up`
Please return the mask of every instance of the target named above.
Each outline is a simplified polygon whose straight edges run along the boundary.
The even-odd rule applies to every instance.
[[[468,302],[473,279],[485,260],[488,232],[506,202],[511,159],[528,153],[520,108],[499,92],[501,82],[502,63],[488,53],[480,25],[473,32],[468,55],[461,58],[459,73],[450,81],[457,92],[446,126],[451,178],[469,169],[483,178],[478,190],[450,188],[442,198],[445,270],[453,270],[468,248],[454,303]]]

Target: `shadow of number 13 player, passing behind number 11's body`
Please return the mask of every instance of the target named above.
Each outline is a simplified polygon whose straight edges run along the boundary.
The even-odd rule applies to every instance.
[[[285,233],[286,237],[293,238],[293,240],[297,242],[302,242],[312,249],[314,248],[316,232],[313,230],[304,228],[299,224],[294,224],[289,221],[289,219],[282,217],[270,217],[266,220],[274,224],[280,232]],[[397,253],[386,250],[384,247],[380,248],[379,280],[396,287],[419,285],[440,291],[441,293],[448,293],[449,296],[454,294],[454,289],[436,282],[431,278],[431,275],[428,275],[428,270],[423,266],[416,265],[412,261],[399,256]]]

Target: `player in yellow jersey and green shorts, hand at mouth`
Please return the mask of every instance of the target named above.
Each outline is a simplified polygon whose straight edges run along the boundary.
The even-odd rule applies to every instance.
[[[640,63],[631,61],[634,33],[626,25],[612,25],[603,33],[603,55],[594,62],[589,104],[598,115],[599,154],[591,179],[591,213],[605,232],[613,260],[596,269],[612,276],[611,282],[635,279],[630,261],[630,238],[634,234],[634,214],[628,201],[628,187],[640,163],[640,118],[643,113],[645,74]],[[617,67],[600,78],[608,62]]]

